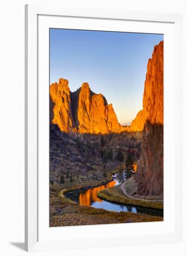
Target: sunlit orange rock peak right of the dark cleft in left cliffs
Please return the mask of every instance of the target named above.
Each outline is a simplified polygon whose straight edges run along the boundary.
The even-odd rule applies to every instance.
[[[77,127],[79,133],[108,134],[120,132],[120,124],[112,104],[108,105],[102,94],[91,92],[88,83],[83,83],[80,89]]]

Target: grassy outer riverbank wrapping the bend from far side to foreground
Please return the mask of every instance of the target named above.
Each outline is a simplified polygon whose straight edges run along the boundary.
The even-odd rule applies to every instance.
[[[118,172],[118,169],[107,172],[107,178],[97,181],[84,182],[82,186],[73,186],[74,182],[65,184],[50,184],[50,227],[58,226],[76,226],[76,225],[95,225],[112,224],[127,222],[153,222],[163,221],[163,217],[149,216],[142,213],[116,212],[105,209],[93,208],[80,205],[66,197],[70,191],[79,191],[80,189],[93,188],[110,182],[112,174]],[[103,190],[102,190],[103,191]]]

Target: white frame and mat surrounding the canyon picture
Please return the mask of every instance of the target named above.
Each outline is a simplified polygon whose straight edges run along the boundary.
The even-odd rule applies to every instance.
[[[76,23],[75,20],[77,21]],[[81,20],[87,20],[87,24]],[[131,27],[126,29],[131,29],[133,32],[151,33],[152,31],[152,33],[156,33],[158,30],[162,34],[167,34],[164,51],[166,53],[164,55],[164,86],[166,84],[165,92],[167,94],[165,93],[164,95],[166,102],[164,108],[165,113],[167,113],[166,119],[168,116],[168,124],[170,126],[166,125],[164,127],[166,135],[164,147],[168,149],[164,151],[164,158],[166,158],[166,161],[164,159],[164,170],[167,167],[171,172],[170,174],[169,172],[165,172],[166,175],[164,174],[164,203],[166,205],[164,206],[166,208],[164,222],[49,228],[47,226],[47,204],[49,199],[47,195],[48,134],[45,129],[48,123],[48,112],[46,112],[44,117],[40,114],[40,110],[47,106],[45,104],[48,104],[48,90],[45,90],[49,84],[49,76],[47,74],[48,42],[45,31],[51,27],[51,24],[55,27],[63,26],[62,28],[65,28],[63,24],[66,24],[66,28],[79,26],[87,29],[90,26],[92,30],[98,29],[98,26],[100,26],[100,30],[107,30],[107,26],[110,26],[111,31],[117,28],[121,31],[120,26],[123,25],[120,24],[123,24],[122,22],[126,22],[127,27]],[[137,26],[137,24],[139,25]],[[55,7],[53,5],[26,5],[25,249],[27,251],[181,241],[182,166],[181,162],[174,161],[175,158],[180,159],[182,155],[181,28],[182,16],[180,14],[131,12],[125,10],[109,10],[107,8],[94,9]],[[40,93],[41,90],[44,92],[42,96]],[[46,128],[48,129],[48,127]],[[169,137],[167,134],[174,138],[173,141],[169,142],[167,140]],[[124,227],[126,228],[125,231]],[[100,229],[100,232],[98,232],[98,229]],[[119,232],[115,232],[116,230],[119,230]],[[123,231],[125,233],[124,235]],[[89,233],[89,238],[87,238],[87,235],[84,236],[85,232]],[[98,233],[99,236],[96,235]]]

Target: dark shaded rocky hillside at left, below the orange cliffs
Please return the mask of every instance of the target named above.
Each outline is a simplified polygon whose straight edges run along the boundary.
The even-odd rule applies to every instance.
[[[50,125],[51,180],[59,182],[60,175],[66,175],[67,171],[76,177],[77,174],[86,175],[90,170],[102,168],[102,160],[98,157],[97,150],[93,151],[86,143],[78,142],[71,139],[69,134],[61,132],[57,125]]]

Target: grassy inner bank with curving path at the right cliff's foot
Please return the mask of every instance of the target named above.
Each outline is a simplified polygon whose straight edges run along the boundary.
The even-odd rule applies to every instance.
[[[147,208],[153,209],[163,209],[163,200],[158,196],[147,196],[142,197],[140,195],[136,195],[136,184],[134,180],[131,178],[121,185],[101,190],[97,193],[97,195],[111,202],[119,202],[136,206],[143,206]],[[133,196],[132,196],[133,194]]]

